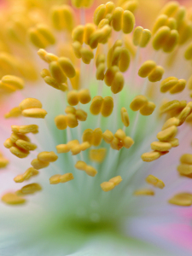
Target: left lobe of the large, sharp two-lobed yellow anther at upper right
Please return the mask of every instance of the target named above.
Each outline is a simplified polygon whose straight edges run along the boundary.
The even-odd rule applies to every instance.
[[[158,50],[166,44],[166,40],[170,37],[171,29],[168,26],[161,26],[157,32],[154,34],[153,47]]]

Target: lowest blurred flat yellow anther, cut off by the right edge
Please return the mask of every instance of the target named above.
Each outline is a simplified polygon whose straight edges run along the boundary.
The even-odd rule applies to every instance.
[[[192,205],[192,194],[179,193],[174,195],[168,202],[179,207],[190,207]]]

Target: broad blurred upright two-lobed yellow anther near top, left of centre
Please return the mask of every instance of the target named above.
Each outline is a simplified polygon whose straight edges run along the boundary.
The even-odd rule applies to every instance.
[[[67,4],[55,6],[53,9],[51,9],[51,20],[55,29],[66,29],[71,32],[74,26],[73,9]]]

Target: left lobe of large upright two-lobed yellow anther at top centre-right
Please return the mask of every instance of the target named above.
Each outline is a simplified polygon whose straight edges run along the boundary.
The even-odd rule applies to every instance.
[[[115,31],[120,31],[122,29],[122,22],[123,20],[127,19],[127,15],[124,17],[124,9],[121,7],[117,7],[113,11],[113,16],[112,16],[112,26],[113,30]],[[125,26],[125,22],[123,23],[123,27]],[[126,27],[124,27],[125,30]],[[129,28],[129,26],[128,26]],[[126,30],[125,30],[126,32]]]

